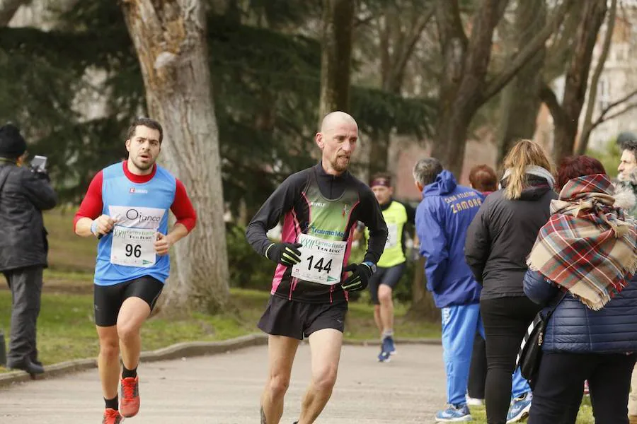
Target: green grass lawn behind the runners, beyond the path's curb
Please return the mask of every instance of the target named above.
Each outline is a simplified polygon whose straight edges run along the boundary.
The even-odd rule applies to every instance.
[[[45,279],[42,310],[38,319],[38,348],[45,364],[76,358],[91,358],[98,353],[93,323],[91,276],[52,271],[55,278]],[[181,341],[217,341],[259,331],[256,322],[265,309],[269,293],[257,290],[231,290],[231,312],[208,315],[195,313],[189,319],[153,317],[142,328],[144,350],[154,350]],[[0,290],[0,310],[11,310],[11,293]],[[403,337],[440,337],[437,324],[406,319],[407,308],[397,308],[396,331]],[[345,336],[350,339],[376,339],[371,305],[352,304]],[[8,333],[10,316],[0,315],[0,328]],[[0,370],[2,368],[0,367]]]

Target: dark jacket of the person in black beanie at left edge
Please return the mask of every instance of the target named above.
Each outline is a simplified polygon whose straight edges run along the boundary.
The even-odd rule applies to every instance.
[[[0,271],[47,266],[47,230],[42,212],[57,204],[44,175],[0,161]]]

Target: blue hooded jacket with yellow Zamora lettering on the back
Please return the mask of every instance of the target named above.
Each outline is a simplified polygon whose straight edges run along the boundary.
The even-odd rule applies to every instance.
[[[415,216],[420,254],[427,260],[427,290],[437,307],[470,305],[480,300],[481,286],[464,259],[466,230],[482,204],[483,196],[458,185],[444,170],[423,189]]]

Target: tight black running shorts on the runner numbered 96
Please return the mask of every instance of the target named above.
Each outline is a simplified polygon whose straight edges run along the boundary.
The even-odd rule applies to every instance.
[[[143,276],[114,285],[95,284],[93,288],[95,324],[113,326],[117,324],[120,307],[128,298],[140,298],[153,310],[163,289],[163,283],[154,277]]]

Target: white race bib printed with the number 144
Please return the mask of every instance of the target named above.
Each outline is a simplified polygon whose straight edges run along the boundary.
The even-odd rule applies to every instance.
[[[313,283],[334,285],[340,283],[347,242],[323,240],[319,237],[299,235],[301,261],[292,266],[292,276]]]

